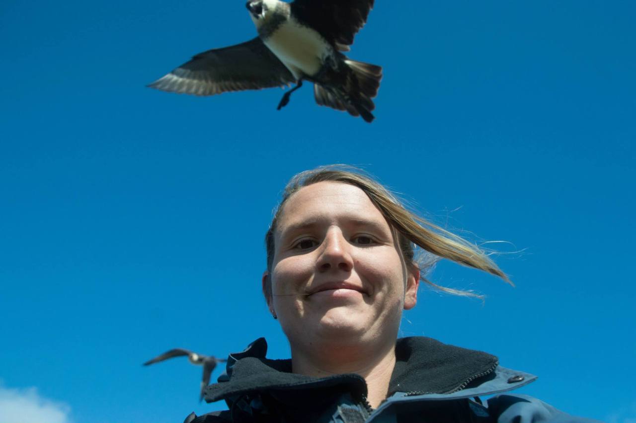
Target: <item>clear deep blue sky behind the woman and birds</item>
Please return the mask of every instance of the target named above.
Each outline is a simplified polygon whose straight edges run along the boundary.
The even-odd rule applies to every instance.
[[[200,369],[142,362],[259,336],[287,357],[260,292],[263,235],[287,179],[328,163],[474,242],[511,243],[490,245],[516,288],[441,263],[433,281],[486,302],[422,288],[404,336],[487,350],[539,375],[524,393],[633,422],[635,15],[378,1],[350,52],[384,67],[368,125],[310,87],[282,111],[278,89],[144,87],[252,38],[242,1],[4,0],[0,422],[16,405],[54,423],[181,422],[218,407],[197,402]]]

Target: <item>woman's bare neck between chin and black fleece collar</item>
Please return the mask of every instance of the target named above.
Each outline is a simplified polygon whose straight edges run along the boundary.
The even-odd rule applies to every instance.
[[[373,408],[385,398],[396,363],[395,342],[385,345],[311,345],[310,349],[292,347],[294,373],[312,377],[328,377],[342,373],[356,373],[364,378],[368,388],[367,400]]]

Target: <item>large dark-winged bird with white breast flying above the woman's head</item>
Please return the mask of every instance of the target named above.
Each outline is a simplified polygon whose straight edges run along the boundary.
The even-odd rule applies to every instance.
[[[245,6],[258,37],[215,48],[149,84],[179,94],[296,87],[280,99],[286,106],[303,81],[314,83],[317,104],[345,110],[371,122],[382,67],[349,59],[354,36],[366,23],[374,0],[251,0]]]

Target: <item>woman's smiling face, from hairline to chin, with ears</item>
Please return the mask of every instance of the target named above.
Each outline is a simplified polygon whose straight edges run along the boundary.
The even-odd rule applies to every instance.
[[[316,336],[394,342],[402,310],[417,301],[419,274],[364,191],[305,186],[284,204],[274,236],[268,303],[292,348]]]

